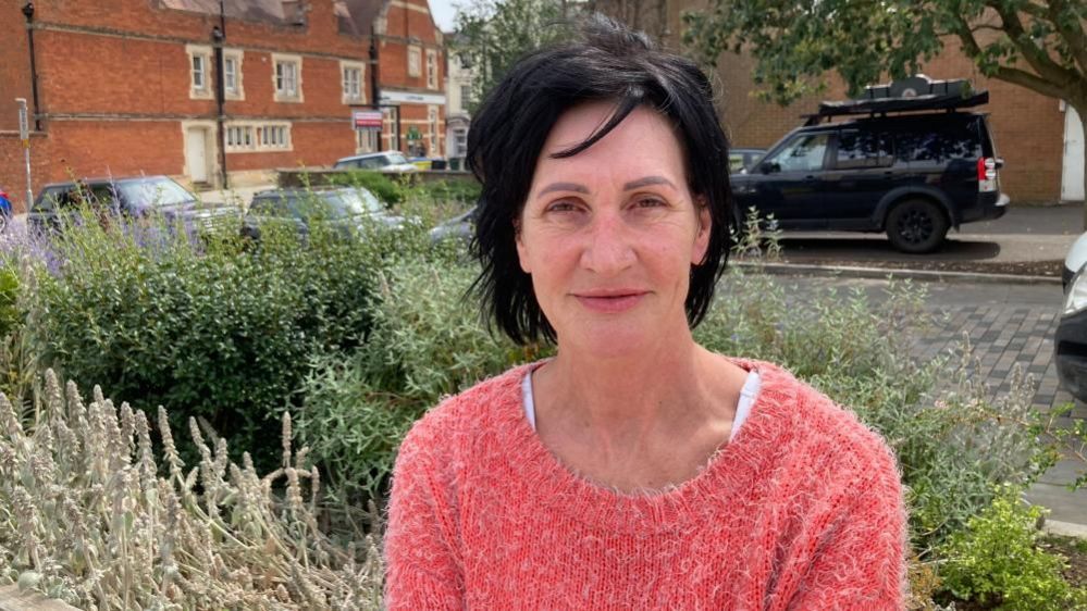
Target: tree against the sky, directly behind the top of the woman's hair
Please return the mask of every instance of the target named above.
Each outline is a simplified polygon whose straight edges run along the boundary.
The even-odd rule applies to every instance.
[[[517,60],[566,39],[570,12],[567,0],[474,0],[459,7],[453,53],[474,72],[475,103]]]

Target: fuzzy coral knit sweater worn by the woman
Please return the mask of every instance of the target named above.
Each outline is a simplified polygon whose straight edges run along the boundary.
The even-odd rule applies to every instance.
[[[516,367],[400,447],[390,610],[901,609],[905,513],[878,435],[769,363],[736,439],[694,478],[622,494],[576,475],[524,416]]]

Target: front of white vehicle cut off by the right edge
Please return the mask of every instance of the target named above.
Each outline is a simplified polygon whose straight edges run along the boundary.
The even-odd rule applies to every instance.
[[[1087,401],[1087,233],[1064,259],[1064,304],[1053,337],[1057,375],[1073,397]]]

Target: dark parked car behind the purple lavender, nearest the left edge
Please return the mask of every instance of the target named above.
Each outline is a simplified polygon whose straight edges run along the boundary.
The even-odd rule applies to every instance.
[[[162,214],[166,220],[181,219],[186,224],[213,228],[236,219],[233,207],[201,207],[192,191],[166,176],[124,178],[84,178],[51,183],[41,188],[27,214],[32,230],[55,232],[65,215],[79,207],[97,210],[103,219],[111,215],[145,216]]]

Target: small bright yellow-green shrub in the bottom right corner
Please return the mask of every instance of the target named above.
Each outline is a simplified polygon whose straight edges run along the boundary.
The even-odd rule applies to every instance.
[[[1087,607],[1087,590],[1061,576],[1065,559],[1038,548],[1042,509],[1005,486],[992,504],[941,548],[943,587],[962,600],[1008,611],[1063,611]]]

